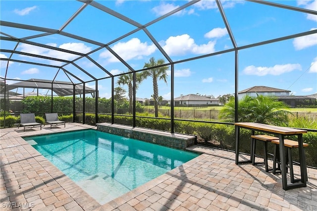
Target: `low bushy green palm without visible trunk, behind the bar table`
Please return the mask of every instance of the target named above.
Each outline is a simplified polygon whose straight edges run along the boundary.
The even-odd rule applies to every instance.
[[[257,97],[245,96],[238,103],[239,122],[257,122],[273,125],[288,125],[289,107],[277,100],[275,96],[257,95]],[[234,98],[220,110],[220,118],[234,121],[235,103]]]

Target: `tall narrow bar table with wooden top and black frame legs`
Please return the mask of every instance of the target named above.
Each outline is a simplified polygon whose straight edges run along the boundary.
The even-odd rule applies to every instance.
[[[255,122],[236,122],[234,123],[234,125],[236,129],[236,164],[251,162],[251,159],[239,161],[240,128],[250,129],[252,135],[255,134],[255,131],[277,135],[279,137],[279,155],[280,155],[280,161],[281,161],[283,189],[289,190],[293,188],[306,187],[307,167],[306,167],[305,152],[303,147],[303,133],[307,133],[306,130],[294,129],[289,127],[279,127],[279,126],[273,126],[273,125],[255,123]],[[284,146],[284,136],[298,137],[301,180],[297,183],[292,183],[292,184],[287,183],[286,159],[285,159],[286,152],[285,152],[285,146]],[[252,145],[252,142],[251,142],[251,145]]]

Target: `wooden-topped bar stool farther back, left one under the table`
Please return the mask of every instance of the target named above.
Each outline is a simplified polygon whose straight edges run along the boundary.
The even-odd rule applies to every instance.
[[[252,165],[264,164],[265,171],[266,172],[271,171],[272,169],[268,169],[268,164],[267,164],[267,154],[268,154],[267,143],[273,140],[278,140],[278,137],[268,136],[268,135],[252,135],[251,138],[252,138],[252,152],[251,152]],[[264,162],[255,162],[257,140],[264,142]]]

